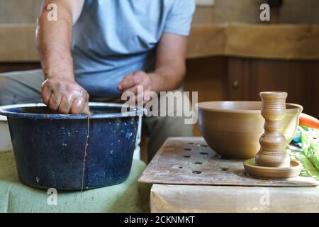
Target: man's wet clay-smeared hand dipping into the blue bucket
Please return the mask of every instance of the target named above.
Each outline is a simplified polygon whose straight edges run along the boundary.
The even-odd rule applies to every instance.
[[[72,79],[46,79],[41,98],[44,104],[60,114],[90,114],[89,94]]]

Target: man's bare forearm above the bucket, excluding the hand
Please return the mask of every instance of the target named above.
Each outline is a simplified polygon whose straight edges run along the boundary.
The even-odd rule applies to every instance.
[[[50,77],[74,79],[72,55],[72,13],[63,7],[57,11],[57,21],[47,20],[47,6],[38,18],[37,48],[43,72]]]

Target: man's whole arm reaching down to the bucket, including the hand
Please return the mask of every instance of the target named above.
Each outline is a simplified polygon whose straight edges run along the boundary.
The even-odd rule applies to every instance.
[[[56,4],[57,21],[47,19],[47,6]],[[84,0],[46,0],[38,18],[37,48],[45,74],[41,97],[61,114],[89,114],[89,94],[74,80],[71,55],[72,26]]]

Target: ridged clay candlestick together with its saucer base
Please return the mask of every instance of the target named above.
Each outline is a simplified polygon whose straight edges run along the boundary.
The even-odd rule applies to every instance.
[[[264,134],[260,137],[260,150],[255,158],[244,162],[250,177],[262,179],[286,179],[297,177],[301,164],[291,161],[286,152],[286,138],[281,121],[286,113],[286,92],[261,92],[262,116],[265,119]],[[299,113],[300,114],[300,113]]]

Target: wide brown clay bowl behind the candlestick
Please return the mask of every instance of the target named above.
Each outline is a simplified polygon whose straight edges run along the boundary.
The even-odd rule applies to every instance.
[[[260,101],[208,101],[196,105],[198,126],[206,143],[223,158],[249,159],[259,151],[264,133]],[[288,145],[296,133],[303,107],[286,104],[282,132]]]

